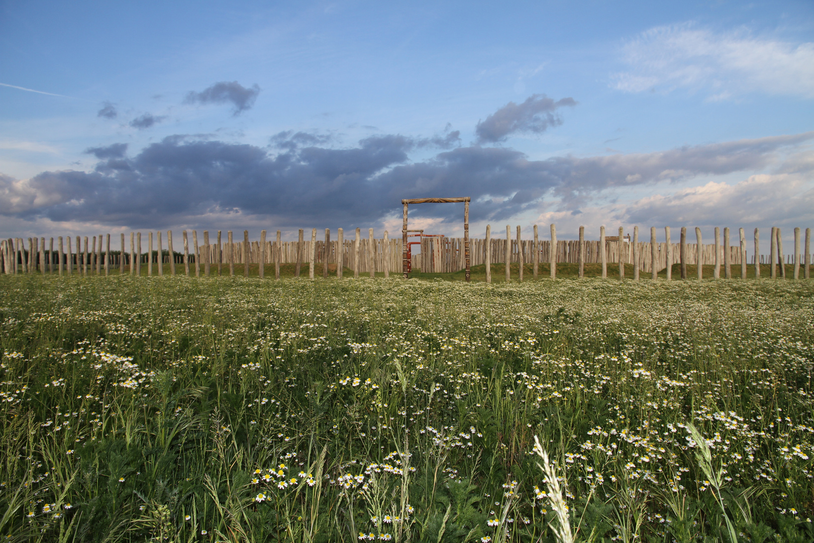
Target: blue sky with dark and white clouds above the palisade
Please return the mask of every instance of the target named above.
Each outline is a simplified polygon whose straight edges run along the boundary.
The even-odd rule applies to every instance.
[[[814,226],[814,2],[0,0],[3,238],[394,236],[459,196],[476,237]]]

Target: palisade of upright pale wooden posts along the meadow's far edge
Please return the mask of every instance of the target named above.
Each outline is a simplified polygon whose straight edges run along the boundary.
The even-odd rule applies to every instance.
[[[650,228],[650,241],[640,241],[639,229],[634,227],[632,236],[624,235],[619,228],[619,235],[607,236],[602,226],[598,240],[584,239],[584,227],[580,227],[580,238],[575,240],[558,240],[556,228],[551,225],[550,239],[540,239],[537,226],[533,227],[531,239],[523,239],[518,226],[516,235],[512,235],[510,226],[506,226],[505,238],[494,238],[490,227],[487,227],[485,239],[470,238],[470,263],[473,266],[487,265],[487,281],[491,279],[491,264],[526,263],[533,265],[536,277],[540,263],[553,264],[550,276],[556,277],[556,264],[571,263],[580,265],[580,277],[584,264],[602,264],[602,276],[606,277],[608,266],[619,266],[619,274],[624,277],[624,265],[632,265],[633,278],[640,274],[650,274],[652,278],[660,271],[667,270],[671,278],[672,265],[681,264],[681,276],[686,277],[686,265],[714,265],[713,278],[746,277],[746,267],[755,266],[755,275],[759,277],[760,264],[774,264],[770,268],[771,277],[785,277],[785,266],[794,265],[794,278],[799,278],[801,271],[804,278],[809,277],[809,266],[812,262],[810,252],[811,229],[805,230],[804,242],[801,230],[794,229],[794,248],[788,254],[783,251],[781,231],[772,227],[769,234],[771,251],[768,255],[759,254],[759,230],[754,232],[754,251],[747,257],[746,233],[739,229],[735,236],[730,235],[729,228],[724,228],[723,243],[720,229],[715,229],[715,242],[702,243],[701,232],[694,229],[696,243],[688,243],[687,230],[681,229],[680,243],[672,243],[670,228],[665,228],[665,242],[656,242],[656,229]],[[274,265],[274,277],[279,278],[279,265],[295,264],[295,274],[300,275],[300,268],[308,265],[309,277],[316,274],[328,275],[328,265],[335,265],[338,277],[342,269],[351,269],[354,276],[373,274],[374,272],[400,273],[402,270],[402,239],[390,239],[387,231],[382,238],[374,237],[370,229],[367,236],[361,230],[346,239],[343,230],[337,232],[337,239],[330,239],[330,230],[325,230],[325,239],[317,239],[317,230],[311,230],[309,236],[300,230],[297,241],[281,241],[277,231],[274,241],[268,239],[266,231],[260,232],[260,239],[249,240],[247,230],[243,231],[243,240],[234,241],[229,231],[226,239],[210,236],[204,230],[202,239],[197,231],[190,236],[182,231],[182,247],[173,247],[173,232],[153,232],[147,234],[147,247],[143,247],[142,234],[129,234],[129,244],[125,244],[125,234],[120,234],[118,250],[112,249],[115,239],[111,234],[88,237],[77,236],[50,238],[3,239],[0,241],[0,270],[4,274],[33,273],[35,271],[55,274],[109,274],[118,270],[120,274],[141,274],[142,266],[147,266],[147,274],[200,274],[226,273],[234,275],[234,265],[264,265],[259,267],[260,277],[264,277],[265,265]],[[190,243],[190,237],[191,242]],[[212,239],[215,238],[215,239]],[[72,243],[75,240],[75,245]],[[176,238],[177,240],[177,238]],[[155,241],[155,245],[154,245]],[[166,242],[166,248],[164,247]],[[735,244],[733,244],[733,241]],[[202,242],[202,243],[199,243]],[[176,241],[177,243],[177,241]],[[552,252],[552,247],[555,251]],[[804,247],[804,249],[803,249]],[[146,252],[142,252],[147,248]],[[176,250],[176,248],[181,250]],[[757,258],[755,258],[757,255]],[[466,240],[464,238],[427,237],[421,241],[421,252],[412,255],[410,262],[413,269],[429,273],[450,273],[466,268]],[[247,274],[247,266],[243,266]],[[721,269],[723,268],[723,270]],[[802,268],[802,270],[801,270]],[[520,280],[522,280],[522,269]],[[698,277],[702,277],[698,267]],[[615,271],[615,270],[614,270]],[[723,272],[723,273],[722,273]],[[271,270],[269,269],[269,274]],[[507,278],[510,271],[506,268]]]

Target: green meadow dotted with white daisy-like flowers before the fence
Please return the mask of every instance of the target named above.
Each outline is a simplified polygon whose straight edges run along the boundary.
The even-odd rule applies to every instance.
[[[0,537],[812,541],[812,296],[0,276]]]

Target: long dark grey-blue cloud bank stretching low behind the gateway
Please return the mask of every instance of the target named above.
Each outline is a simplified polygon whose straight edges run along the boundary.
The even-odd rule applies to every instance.
[[[313,134],[281,133],[274,138],[276,151],[177,135],[133,157],[125,156],[124,144],[89,149],[100,159],[92,172],[44,172],[23,181],[2,177],[0,214],[133,228],[202,223],[212,227],[212,217],[220,217],[218,221],[260,217],[264,224],[279,228],[335,228],[380,224],[400,213],[402,198],[468,195],[475,202],[470,208],[473,222],[495,221],[539,212],[544,198],[547,204],[554,202],[572,212],[609,189],[769,166],[776,166],[769,175],[790,176],[774,177],[776,181],[811,182],[814,158],[801,144],[812,139],[814,133],[807,133],[654,153],[548,160],[528,160],[522,152],[505,147],[473,146],[412,163],[409,152],[417,142],[392,134],[337,149],[322,147],[322,140]],[[778,160],[794,150],[789,161]],[[764,183],[755,185],[753,193],[771,195],[772,190],[771,183]],[[676,195],[673,198],[681,193]],[[669,202],[657,204],[664,208]],[[697,205],[689,196],[684,204]],[[640,215],[632,217],[646,217],[647,205],[657,208],[641,200],[631,208]],[[420,214],[460,218],[450,206],[427,206]]]

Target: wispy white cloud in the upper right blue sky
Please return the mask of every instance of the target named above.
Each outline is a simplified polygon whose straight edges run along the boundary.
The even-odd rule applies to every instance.
[[[686,88],[711,99],[744,92],[814,98],[814,42],[794,44],[694,24],[650,28],[625,44],[632,68],[611,76],[626,92]]]

